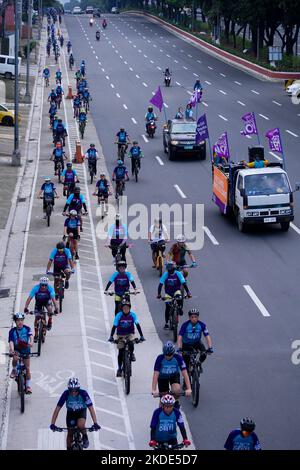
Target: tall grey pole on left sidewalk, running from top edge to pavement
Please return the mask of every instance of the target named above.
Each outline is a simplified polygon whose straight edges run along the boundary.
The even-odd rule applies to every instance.
[[[12,166],[21,166],[21,153],[19,150],[19,43],[21,18],[22,0],[15,0],[15,126]]]

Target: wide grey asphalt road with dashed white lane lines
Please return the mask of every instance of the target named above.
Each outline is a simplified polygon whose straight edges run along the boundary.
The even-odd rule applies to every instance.
[[[256,420],[265,449],[299,448],[299,368],[291,362],[291,344],[300,326],[299,196],[295,196],[295,229],[282,233],[277,227],[264,227],[240,234],[211,202],[209,160],[167,160],[162,148],[163,114],[155,138],[143,140],[148,101],[162,86],[162,70],[168,66],[172,86],[162,86],[168,117],[179,105],[185,106],[199,76],[206,103],[199,113],[207,115],[211,141],[227,130],[232,158],[247,157],[247,146],[255,139],[240,135],[241,116],[255,111],[266,149],[265,132],[280,127],[294,184],[299,175],[299,106],[291,103],[282,84],[257,80],[224,64],[148,19],[110,16],[100,42],[95,41],[96,27],[91,28],[87,18],[69,16],[66,25],[75,59],[87,63],[92,117],[109,170],[115,163],[113,141],[121,125],[144,150],[140,181],[126,187],[129,204],[205,205],[204,223],[214,238],[205,235],[203,249],[195,253],[199,267],[189,277],[194,298],[186,309],[201,309],[215,353],[205,363],[198,409],[183,404],[196,448],[222,448],[227,432],[244,415]],[[159,336],[162,341],[169,339],[162,330],[163,305],[155,300],[158,278],[151,268],[149,247],[145,241],[135,241],[131,252]],[[248,285],[269,317],[246,292]]]

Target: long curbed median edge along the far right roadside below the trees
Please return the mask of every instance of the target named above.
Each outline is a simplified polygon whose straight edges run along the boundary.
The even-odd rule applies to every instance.
[[[166,29],[175,33],[181,38],[183,37],[183,39],[188,40],[188,42],[191,42],[193,45],[199,46],[202,50],[212,55],[213,57],[219,60],[222,60],[223,62],[226,62],[229,65],[237,67],[243,72],[247,72],[251,75],[254,75],[256,78],[269,80],[269,81],[300,79],[300,72],[277,72],[277,71],[268,70],[265,67],[254,64],[246,59],[243,59],[242,57],[237,57],[233,54],[230,54],[230,52],[224,51],[218,48],[217,46],[214,46],[213,44],[209,44],[203,39],[197,38],[193,34],[187,31],[184,31],[178,28],[177,26],[171,25],[170,23],[162,20],[161,18],[157,18],[156,16],[151,15],[151,13],[140,12],[140,11],[135,11],[135,10],[127,11],[124,13],[146,16],[151,21],[154,21],[154,22],[156,21],[157,23],[160,23]]]

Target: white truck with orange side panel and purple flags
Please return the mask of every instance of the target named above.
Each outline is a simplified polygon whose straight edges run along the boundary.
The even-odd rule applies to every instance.
[[[294,220],[293,192],[281,163],[264,168],[213,165],[213,201],[223,214],[234,215],[241,232],[250,224],[280,224],[287,231]]]

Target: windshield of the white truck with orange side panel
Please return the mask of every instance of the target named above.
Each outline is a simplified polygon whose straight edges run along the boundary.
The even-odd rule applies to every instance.
[[[246,196],[288,194],[290,186],[284,173],[248,175],[245,177]]]

